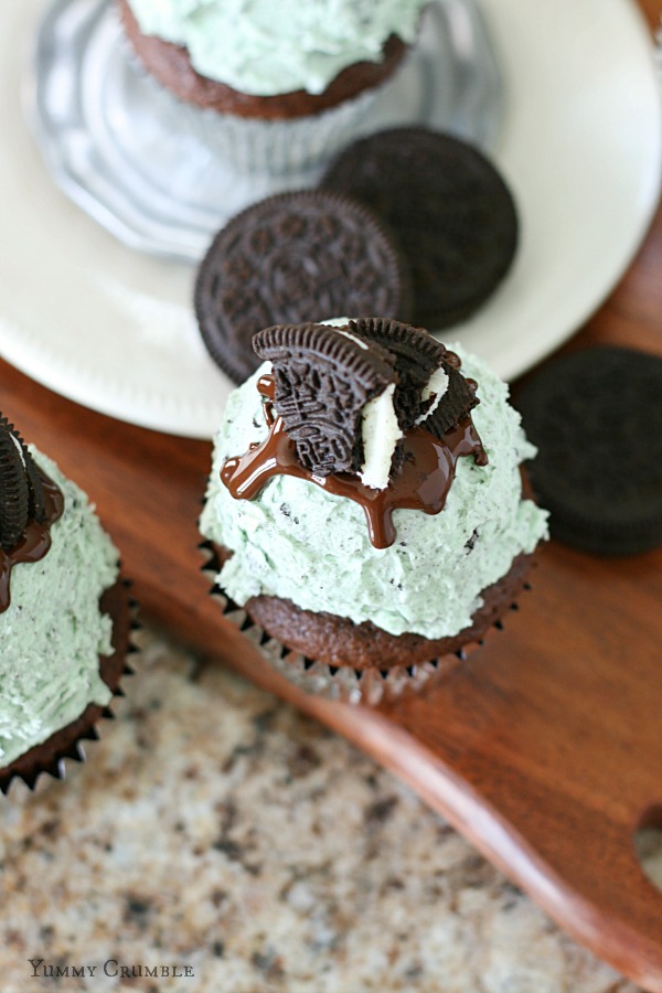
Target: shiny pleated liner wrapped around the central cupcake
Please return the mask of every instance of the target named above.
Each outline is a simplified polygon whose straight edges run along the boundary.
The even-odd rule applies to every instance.
[[[483,644],[487,634],[484,632],[478,639],[468,641],[456,652],[414,665],[363,670],[329,665],[288,648],[255,623],[246,610],[235,604],[216,583],[221,562],[213,542],[202,542],[199,548],[205,558],[202,572],[212,579],[210,594],[217,600],[223,616],[234,623],[259,649],[265,660],[290,683],[306,693],[313,693],[327,700],[375,706],[382,701],[395,700],[405,693],[420,693],[441,682],[456,665],[466,662],[469,655]],[[528,590],[531,586],[523,583],[521,588]],[[510,609],[517,610],[517,604],[512,602]],[[489,627],[498,631],[503,630],[502,618],[494,620]]]

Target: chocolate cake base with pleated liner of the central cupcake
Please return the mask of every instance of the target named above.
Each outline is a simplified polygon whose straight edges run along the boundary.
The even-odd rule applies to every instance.
[[[430,640],[389,634],[370,621],[355,624],[349,618],[302,610],[278,597],[253,597],[238,607],[215,583],[227,552],[211,542],[200,548],[207,558],[202,569],[214,577],[211,594],[224,616],[277,672],[307,693],[367,705],[428,688],[465,662],[491,628],[501,630],[503,616],[517,609],[516,598],[528,588],[533,559],[519,555],[509,573],[483,591],[470,627],[452,638]]]

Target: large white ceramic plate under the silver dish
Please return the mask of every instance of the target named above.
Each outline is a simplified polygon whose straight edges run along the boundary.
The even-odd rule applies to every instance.
[[[28,134],[18,86],[44,7],[0,4],[0,355],[94,409],[209,437],[229,384],[197,335],[193,269],[116,242],[55,189]],[[512,378],[569,337],[630,261],[658,202],[662,121],[632,0],[482,8],[505,88],[493,154],[522,242],[500,290],[445,338]]]

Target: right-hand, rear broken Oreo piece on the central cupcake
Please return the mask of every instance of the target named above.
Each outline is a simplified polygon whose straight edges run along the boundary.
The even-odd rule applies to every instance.
[[[360,338],[378,342],[395,355],[399,385],[395,410],[403,428],[420,424],[441,438],[479,403],[477,384],[460,373],[460,360],[423,328],[382,318],[349,323]]]

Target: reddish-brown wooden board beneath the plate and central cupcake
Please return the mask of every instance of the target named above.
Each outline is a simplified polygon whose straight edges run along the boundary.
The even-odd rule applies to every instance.
[[[659,4],[641,6],[652,26]],[[567,348],[662,354],[661,273],[662,212]],[[89,492],[148,618],[346,735],[597,955],[662,991],[662,895],[632,843],[639,825],[662,826],[662,549],[609,560],[551,543],[504,632],[441,684],[372,709],[330,703],[275,673],[207,596],[196,519],[209,444],[85,410],[4,363],[0,398]]]

